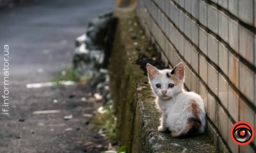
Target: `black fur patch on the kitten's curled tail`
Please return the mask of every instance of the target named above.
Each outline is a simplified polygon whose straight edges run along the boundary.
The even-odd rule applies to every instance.
[[[192,124],[192,127],[191,129],[189,129],[187,133],[181,134],[179,138],[189,138],[199,134],[199,129],[201,128],[201,125],[202,125],[199,118],[191,117],[191,118],[188,118],[187,122],[189,122],[189,124]]]

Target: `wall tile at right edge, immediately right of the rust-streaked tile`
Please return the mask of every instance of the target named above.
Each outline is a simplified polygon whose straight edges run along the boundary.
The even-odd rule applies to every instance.
[[[254,102],[254,73],[243,63],[239,63],[239,90],[245,95],[251,102]]]

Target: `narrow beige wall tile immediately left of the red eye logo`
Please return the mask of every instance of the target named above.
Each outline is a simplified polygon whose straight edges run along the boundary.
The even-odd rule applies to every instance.
[[[218,130],[220,130],[223,139],[227,142],[228,137],[230,137],[228,131],[228,116],[220,105],[218,105]]]

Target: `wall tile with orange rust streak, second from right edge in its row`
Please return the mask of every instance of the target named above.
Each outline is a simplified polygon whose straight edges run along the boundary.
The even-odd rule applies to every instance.
[[[229,80],[238,88],[238,58],[229,52]]]

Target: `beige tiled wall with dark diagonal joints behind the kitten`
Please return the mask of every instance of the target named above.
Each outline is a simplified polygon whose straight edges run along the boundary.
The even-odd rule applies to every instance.
[[[204,99],[214,145],[255,152],[255,138],[238,146],[230,137],[238,121],[256,126],[254,1],[137,0],[137,15],[166,65],[185,63],[185,86]]]

